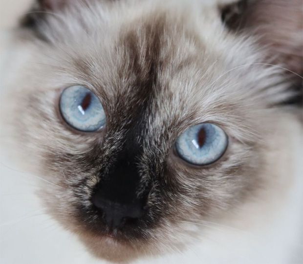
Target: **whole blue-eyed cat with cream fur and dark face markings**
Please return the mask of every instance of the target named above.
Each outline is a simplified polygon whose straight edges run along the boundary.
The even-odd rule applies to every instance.
[[[6,122],[92,255],[300,261],[302,27],[296,53],[267,37],[273,2],[39,0],[23,18]]]

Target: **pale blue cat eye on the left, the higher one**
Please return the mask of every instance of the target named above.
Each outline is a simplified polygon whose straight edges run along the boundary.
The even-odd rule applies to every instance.
[[[96,131],[106,122],[99,99],[83,86],[71,86],[62,92],[60,111],[65,122],[80,131]]]

